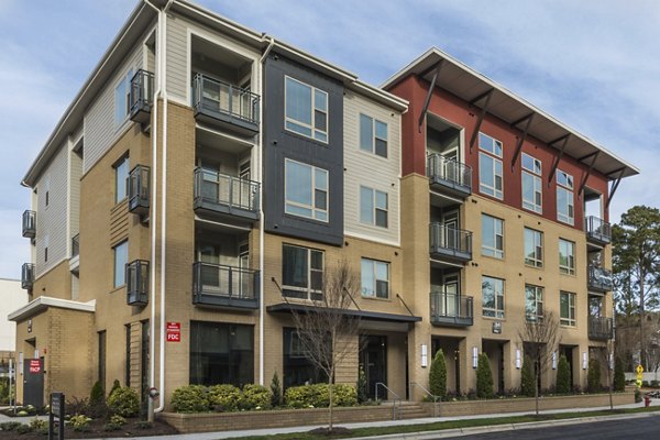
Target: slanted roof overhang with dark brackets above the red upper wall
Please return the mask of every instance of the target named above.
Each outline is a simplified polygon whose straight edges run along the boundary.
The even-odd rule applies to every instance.
[[[436,47],[431,47],[408,66],[393,75],[382,87],[392,89],[410,75],[431,82],[436,66],[440,62],[442,62],[442,69],[436,79],[437,87],[477,107],[481,103],[477,98],[485,97],[490,90],[493,90],[487,106],[490,114],[512,124],[512,127],[518,127],[520,130],[526,127],[528,117],[534,114],[534,120],[527,128],[529,135],[558,150],[561,147],[561,143],[554,144],[553,141],[563,140],[566,135],[570,135],[564,154],[590,166],[594,155],[600,152],[593,164],[593,169],[610,180],[617,179],[619,176],[629,177],[639,174],[637,167],[604,146]]]

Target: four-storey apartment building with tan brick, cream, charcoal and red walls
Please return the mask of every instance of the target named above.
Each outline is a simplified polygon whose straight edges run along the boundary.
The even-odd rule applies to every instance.
[[[362,365],[371,396],[419,399],[442,348],[452,389],[474,388],[482,351],[517,387],[517,331],[544,305],[584,384],[583,354],[612,337],[607,205],[636,173],[439,51],[378,88],[143,1],[23,179],[19,399],[119,380],[157,387],[161,410],[187,384],[319,381],[292,312],[340,260],[361,341],[338,382]]]

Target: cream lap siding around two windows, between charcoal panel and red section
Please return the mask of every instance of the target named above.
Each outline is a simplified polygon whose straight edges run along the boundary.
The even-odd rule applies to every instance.
[[[387,123],[387,158],[360,150],[360,113]],[[399,242],[400,113],[346,91],[344,96],[344,232]],[[360,186],[387,193],[388,228],[360,222]]]

